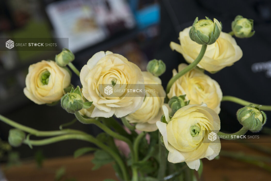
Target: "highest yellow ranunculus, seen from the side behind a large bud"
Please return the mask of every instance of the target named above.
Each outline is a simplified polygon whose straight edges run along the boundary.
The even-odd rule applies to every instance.
[[[202,46],[190,39],[190,28],[185,28],[180,32],[180,45],[175,42],[170,43],[170,48],[181,53],[188,63],[192,63],[197,58]],[[233,65],[242,56],[243,52],[235,42],[235,39],[230,34],[221,32],[216,42],[207,46],[206,52],[198,66],[209,72],[215,72],[226,66]]]

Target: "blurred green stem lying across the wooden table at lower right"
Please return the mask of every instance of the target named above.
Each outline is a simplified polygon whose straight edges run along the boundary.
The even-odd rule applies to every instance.
[[[243,161],[245,163],[250,163],[260,168],[263,168],[267,170],[268,172],[271,172],[271,167],[268,164],[264,163],[264,161],[270,160],[269,157],[265,157],[265,158],[255,157],[251,155],[244,155],[243,153],[235,153],[235,152],[224,151],[224,150],[221,150],[219,155],[228,157],[228,158],[233,158],[235,160]]]

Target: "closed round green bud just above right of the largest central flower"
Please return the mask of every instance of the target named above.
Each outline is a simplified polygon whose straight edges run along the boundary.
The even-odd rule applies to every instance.
[[[147,71],[155,76],[160,76],[166,71],[166,64],[162,60],[153,59],[149,61]]]

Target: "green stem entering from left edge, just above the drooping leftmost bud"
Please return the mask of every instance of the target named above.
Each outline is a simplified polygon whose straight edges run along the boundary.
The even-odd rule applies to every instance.
[[[75,134],[75,133],[85,134],[82,131],[73,130],[73,129],[62,129],[62,130],[57,130],[57,131],[38,131],[37,129],[29,128],[27,126],[16,123],[16,122],[12,121],[11,119],[8,119],[2,115],[0,115],[0,120],[2,120],[4,123],[7,123],[10,126],[13,126],[14,128],[28,132],[28,133],[35,135],[35,136],[57,136],[57,135]]]

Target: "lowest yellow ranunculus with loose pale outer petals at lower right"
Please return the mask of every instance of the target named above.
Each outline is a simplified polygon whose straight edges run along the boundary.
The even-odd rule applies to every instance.
[[[212,160],[219,154],[219,138],[208,141],[209,133],[220,130],[220,119],[214,110],[206,104],[188,105],[179,109],[171,120],[166,106],[163,110],[167,124],[156,122],[156,125],[169,151],[169,162],[185,161],[189,168],[198,170],[199,159]]]

